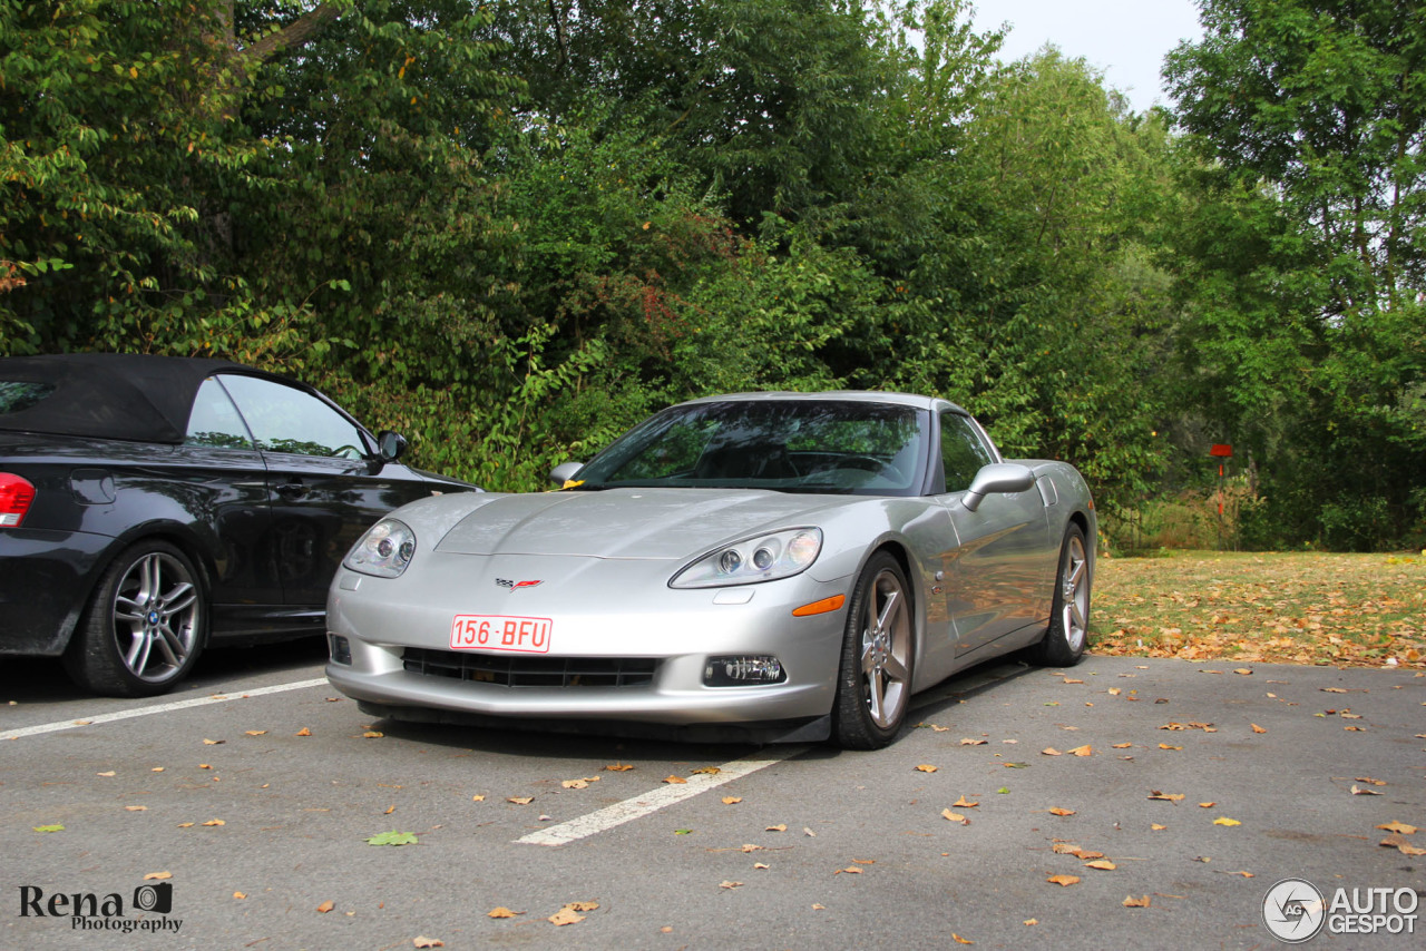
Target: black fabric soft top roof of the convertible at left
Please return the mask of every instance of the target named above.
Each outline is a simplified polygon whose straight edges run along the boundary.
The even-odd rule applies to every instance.
[[[282,379],[225,359],[190,356],[56,354],[0,359],[0,386],[19,382],[54,388],[33,405],[0,412],[0,431],[177,445],[188,431],[198,386],[220,371]]]

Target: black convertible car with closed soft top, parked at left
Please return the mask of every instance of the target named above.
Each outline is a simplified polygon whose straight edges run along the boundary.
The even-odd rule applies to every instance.
[[[215,359],[0,359],[0,654],[111,696],[208,643],[322,633],[327,587],[391,509],[475,486],[396,463],[301,382]]]

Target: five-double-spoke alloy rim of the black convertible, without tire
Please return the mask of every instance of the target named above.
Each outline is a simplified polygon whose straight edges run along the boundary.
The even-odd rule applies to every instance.
[[[114,644],[140,680],[161,683],[178,672],[198,636],[198,590],[188,567],[167,552],[135,560],[114,592]]]

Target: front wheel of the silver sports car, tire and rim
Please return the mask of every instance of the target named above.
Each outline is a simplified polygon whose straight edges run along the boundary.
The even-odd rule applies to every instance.
[[[877,750],[901,731],[911,706],[915,615],[911,589],[891,555],[871,556],[847,606],[833,701],[833,739],[847,750]]]

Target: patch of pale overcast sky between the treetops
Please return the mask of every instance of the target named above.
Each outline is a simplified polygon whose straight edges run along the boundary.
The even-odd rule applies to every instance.
[[[1000,57],[1007,63],[1054,43],[1070,58],[1084,57],[1104,70],[1108,84],[1125,93],[1135,111],[1162,91],[1164,54],[1179,40],[1198,40],[1194,0],[974,0],[975,29],[1008,21]]]

